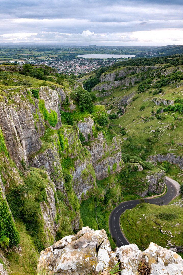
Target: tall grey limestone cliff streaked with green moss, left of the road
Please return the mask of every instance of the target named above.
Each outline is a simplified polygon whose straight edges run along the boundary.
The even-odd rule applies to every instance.
[[[40,202],[39,218],[45,232],[43,239],[53,242],[59,228],[57,216],[62,215],[57,192],[62,194],[64,203],[73,213],[70,218],[72,228],[78,230],[82,224],[79,202],[93,194],[96,176],[102,179],[121,169],[121,150],[116,137],[109,144],[102,132],[94,138],[93,131],[96,129],[90,115],[77,126],[62,125],[59,108],[67,108],[68,112],[75,108],[69,98],[69,88],[63,90],[55,86],[53,90],[43,86],[37,90],[39,98],[25,87],[7,89],[2,93],[0,134],[10,159],[8,155],[0,156],[4,167],[2,171],[6,171],[3,172],[6,185],[1,184],[1,189],[5,196],[6,191],[12,188],[12,182],[15,186],[25,186],[24,179],[31,167],[34,167],[31,168],[33,172],[44,174],[46,199]],[[49,119],[45,120],[45,113],[48,116],[52,112],[57,117],[54,127]],[[83,146],[79,131],[85,141],[90,139],[93,145]],[[9,164],[12,160],[14,165]]]

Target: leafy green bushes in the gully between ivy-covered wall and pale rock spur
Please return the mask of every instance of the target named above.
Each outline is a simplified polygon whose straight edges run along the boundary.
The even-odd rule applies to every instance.
[[[23,220],[40,252],[46,246],[43,221],[40,219],[40,202],[47,201],[45,187],[48,184],[48,178],[44,171],[31,168],[24,182],[25,185],[10,186],[6,197],[14,218]]]

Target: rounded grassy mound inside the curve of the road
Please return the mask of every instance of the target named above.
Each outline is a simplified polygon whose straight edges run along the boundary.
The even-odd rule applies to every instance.
[[[140,204],[121,215],[121,227],[129,242],[137,244],[142,250],[146,249],[151,241],[163,247],[169,246],[168,241],[174,246],[181,246],[183,232],[181,209],[176,205]]]

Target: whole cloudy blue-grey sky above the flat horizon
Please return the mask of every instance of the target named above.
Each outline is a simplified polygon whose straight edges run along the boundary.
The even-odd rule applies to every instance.
[[[0,0],[0,42],[183,45],[182,0]]]

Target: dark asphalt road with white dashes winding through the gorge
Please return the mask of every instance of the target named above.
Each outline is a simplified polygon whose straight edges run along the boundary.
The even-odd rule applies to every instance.
[[[177,182],[166,177],[165,184],[167,185],[167,193],[162,197],[154,197],[152,199],[145,198],[145,202],[150,204],[165,205],[171,202],[174,197],[178,196],[178,186]],[[135,205],[139,204],[138,200],[128,200],[126,202],[121,202],[117,207],[115,207],[109,216],[109,231],[116,240],[117,247],[129,244],[125,236],[123,235],[120,227],[120,216],[126,209],[132,209]]]

